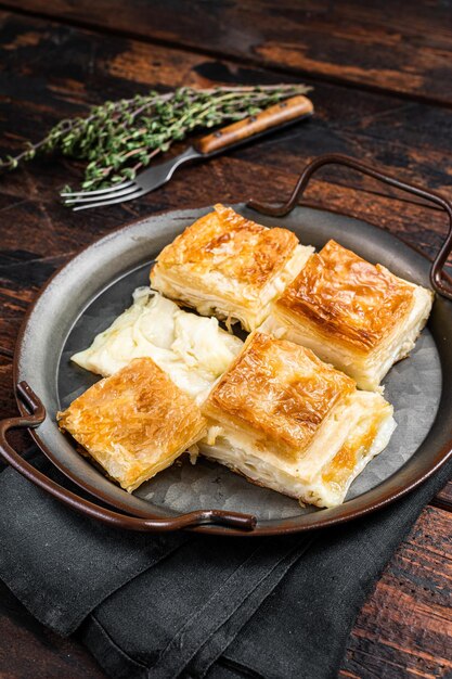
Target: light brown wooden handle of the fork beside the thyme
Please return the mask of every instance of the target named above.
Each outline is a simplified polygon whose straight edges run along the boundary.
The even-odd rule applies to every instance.
[[[302,94],[292,97],[285,101],[266,108],[255,116],[228,125],[211,134],[198,139],[194,146],[196,151],[205,155],[231,146],[259,132],[264,132],[273,127],[289,123],[295,118],[308,115],[314,110],[312,102]]]

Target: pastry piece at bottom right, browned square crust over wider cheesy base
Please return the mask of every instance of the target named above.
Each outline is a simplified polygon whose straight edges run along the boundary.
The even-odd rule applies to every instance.
[[[256,332],[204,405],[203,454],[318,507],[340,504],[396,423],[380,394],[310,349]]]

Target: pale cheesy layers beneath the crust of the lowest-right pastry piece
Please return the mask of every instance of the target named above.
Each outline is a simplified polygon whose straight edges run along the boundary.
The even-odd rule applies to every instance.
[[[356,392],[330,413],[295,462],[224,422],[215,422],[198,447],[206,457],[259,485],[300,502],[335,507],[344,502],[367,462],[387,446],[395,428],[392,407],[383,396]]]

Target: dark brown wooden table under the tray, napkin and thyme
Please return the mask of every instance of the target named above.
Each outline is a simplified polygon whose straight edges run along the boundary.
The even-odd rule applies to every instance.
[[[370,7],[372,4],[372,7]],[[124,222],[169,208],[286,195],[313,156],[348,153],[452,195],[451,0],[10,0],[0,3],[0,151],[60,118],[154,87],[305,81],[315,119],[180,171],[144,198],[74,214],[57,189],[80,167],[36,162],[0,180],[1,417],[16,412],[12,356],[39,286]],[[190,180],[189,180],[190,177]],[[431,256],[442,215],[323,174],[313,204],[360,216]],[[20,448],[26,437],[16,436]],[[340,677],[452,672],[452,484],[424,509],[364,605]],[[83,648],[36,623],[0,585],[0,678],[103,677]]]

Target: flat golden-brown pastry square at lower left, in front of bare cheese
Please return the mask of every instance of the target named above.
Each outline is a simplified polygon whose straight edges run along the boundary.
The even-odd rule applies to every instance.
[[[96,382],[56,419],[129,492],[172,464],[206,427],[198,407],[151,358]]]

